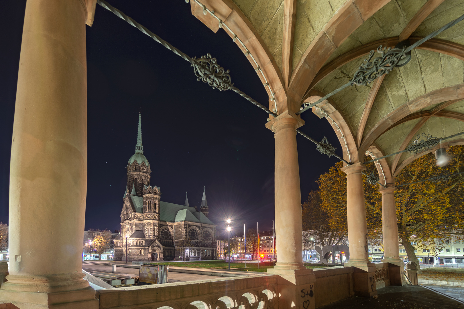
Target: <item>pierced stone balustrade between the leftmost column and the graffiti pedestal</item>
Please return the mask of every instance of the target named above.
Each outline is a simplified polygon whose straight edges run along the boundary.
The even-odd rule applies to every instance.
[[[277,277],[263,274],[99,290],[100,309],[274,309]]]

